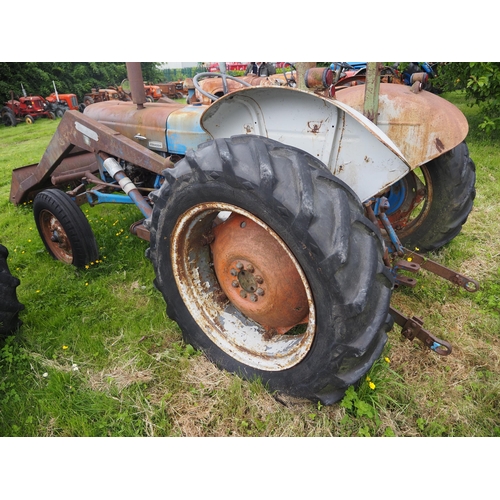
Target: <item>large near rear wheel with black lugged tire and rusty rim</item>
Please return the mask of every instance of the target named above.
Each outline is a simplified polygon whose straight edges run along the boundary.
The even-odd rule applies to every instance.
[[[272,391],[323,404],[341,399],[378,359],[392,327],[382,237],[356,195],[308,153],[256,136],[205,143],[163,174],[167,182],[151,196],[149,257],[185,341]],[[267,239],[243,236],[233,266],[225,241],[251,227]],[[267,257],[278,252],[274,266]],[[306,297],[300,306],[289,299],[297,290]]]

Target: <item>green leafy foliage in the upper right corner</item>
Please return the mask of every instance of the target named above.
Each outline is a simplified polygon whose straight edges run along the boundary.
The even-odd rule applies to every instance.
[[[500,62],[442,63],[436,79],[445,91],[463,90],[483,115],[480,128],[500,129]]]

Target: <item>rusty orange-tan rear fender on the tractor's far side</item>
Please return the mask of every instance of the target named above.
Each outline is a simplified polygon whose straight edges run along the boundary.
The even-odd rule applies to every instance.
[[[360,113],[364,86],[337,91],[339,101]],[[407,85],[381,83],[377,126],[398,145],[408,163],[416,168],[458,146],[469,131],[463,113],[431,92],[413,92]]]

